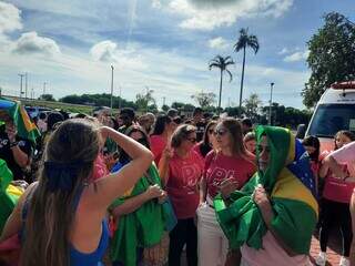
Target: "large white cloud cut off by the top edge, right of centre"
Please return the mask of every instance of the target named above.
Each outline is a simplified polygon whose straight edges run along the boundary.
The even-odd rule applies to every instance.
[[[232,25],[240,18],[274,17],[284,14],[293,0],[171,0],[169,8],[185,19],[185,29],[213,30]]]

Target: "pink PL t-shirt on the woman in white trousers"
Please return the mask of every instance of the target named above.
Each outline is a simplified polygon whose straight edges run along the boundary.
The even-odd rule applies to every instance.
[[[219,193],[221,183],[232,177],[239,182],[241,188],[256,172],[253,158],[241,156],[225,156],[211,151],[205,157],[205,178],[207,194],[214,198]]]

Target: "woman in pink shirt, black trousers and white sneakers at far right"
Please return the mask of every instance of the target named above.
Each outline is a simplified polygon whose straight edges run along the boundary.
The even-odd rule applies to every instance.
[[[355,141],[355,135],[349,131],[339,131],[335,135],[335,150],[341,149]],[[327,160],[325,160],[326,162]],[[344,172],[352,170],[351,163],[342,163]],[[320,170],[320,177],[325,178],[323,191],[323,198],[321,202],[321,216],[320,216],[320,243],[321,253],[316,258],[320,266],[326,264],[326,246],[331,228],[336,225],[341,227],[343,237],[343,254],[341,258],[341,266],[349,265],[348,256],[352,243],[352,223],[349,213],[349,202],[355,183],[348,183],[342,176],[334,175],[328,167],[327,163],[323,163]]]

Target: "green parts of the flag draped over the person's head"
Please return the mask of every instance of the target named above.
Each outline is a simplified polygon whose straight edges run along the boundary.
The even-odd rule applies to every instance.
[[[255,249],[262,248],[262,239],[267,228],[253,201],[255,187],[262,184],[271,195],[274,212],[271,225],[273,231],[293,252],[308,254],[312,232],[317,221],[316,213],[302,201],[277,198],[272,195],[277,177],[286,166],[290,143],[294,141],[294,137],[290,131],[282,127],[258,126],[256,129],[257,144],[263,134],[267,135],[271,152],[267,170],[265,173],[258,171],[241,191],[232,193],[230,204],[226,205],[221,195],[214,198],[217,221],[230,241],[231,248],[235,249],[244,244]]]

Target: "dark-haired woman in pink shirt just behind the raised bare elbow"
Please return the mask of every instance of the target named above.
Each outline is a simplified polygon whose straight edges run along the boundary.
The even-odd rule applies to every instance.
[[[154,131],[150,137],[151,151],[154,155],[154,162],[158,165],[162,153],[170,140],[171,134],[178,126],[178,120],[172,120],[168,115],[159,115],[156,117]]]

